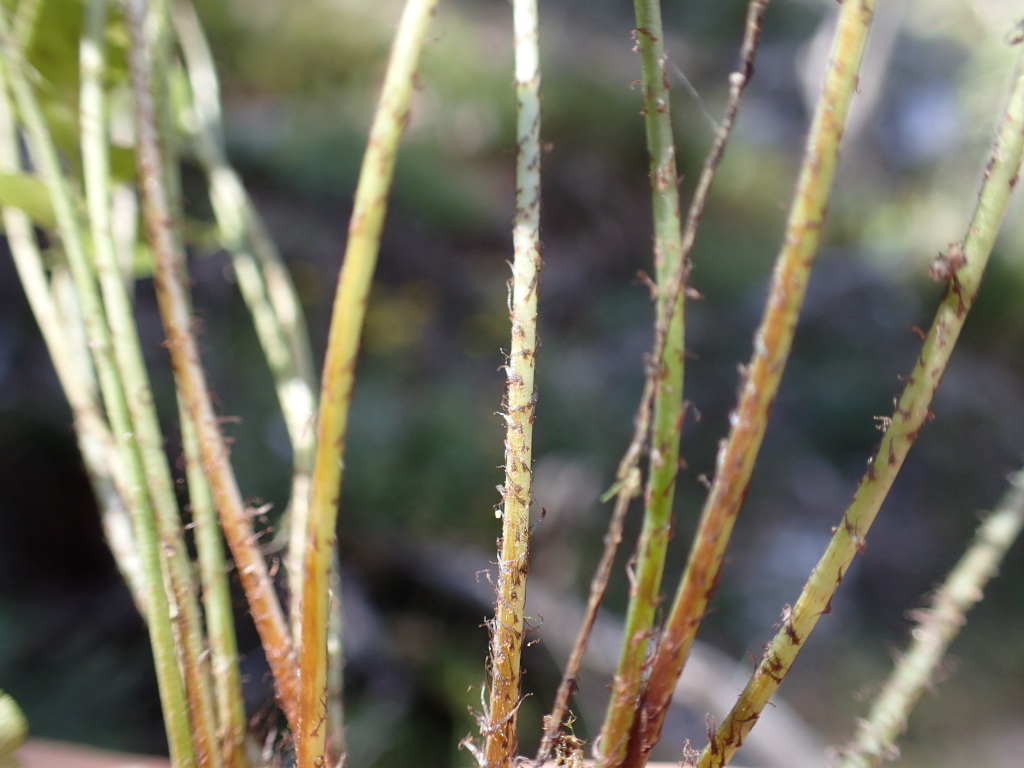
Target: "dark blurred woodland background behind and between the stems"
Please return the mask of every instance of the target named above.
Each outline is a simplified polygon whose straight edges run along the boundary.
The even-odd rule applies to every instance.
[[[355,0],[198,3],[222,77],[232,159],[326,341],[355,173],[400,4]],[[889,7],[890,5],[895,7]],[[538,595],[579,603],[626,447],[650,347],[646,152],[628,3],[542,3],[544,256],[534,543]],[[878,443],[941,295],[928,264],[963,237],[1016,50],[1010,0],[883,4],[851,118],[822,252],[762,459],[700,638],[753,669],[796,600]],[[684,436],[688,469],[666,583],[689,546],[736,367],[751,349],[778,247],[835,3],[775,0],[757,73],[693,254]],[[724,106],[744,3],[668,3],[679,161],[688,194]],[[348,614],[352,766],[467,765],[480,709],[493,508],[502,481],[502,348],[511,258],[514,101],[504,0],[441,3],[399,158],[353,404],[339,541]],[[208,205],[185,169],[186,204]],[[1019,200],[929,424],[781,688],[808,732],[842,743],[906,640],[909,609],[942,579],[1024,451],[1024,218]],[[202,345],[250,501],[287,504],[289,449],[265,365],[223,253],[193,254]],[[140,324],[158,381],[167,366],[151,288]],[[173,443],[173,435],[171,443]],[[174,449],[169,447],[172,453]],[[638,519],[630,520],[625,562]],[[71,418],[10,259],[0,258],[0,687],[37,735],[159,752],[162,725],[143,627],[96,520]],[[902,742],[907,766],[1024,755],[1024,577],[1015,548],[970,616]],[[627,584],[617,567],[602,620]],[[542,607],[550,608],[550,600]],[[565,608],[568,613],[571,611]],[[536,609],[536,608],[535,608]],[[567,614],[567,613],[566,613]],[[558,667],[559,614],[528,651],[523,749],[534,749]],[[564,618],[564,615],[562,615]],[[267,695],[243,627],[255,710]],[[546,637],[550,640],[546,641]],[[594,662],[614,658],[598,649]],[[606,672],[610,672],[610,667]],[[585,685],[578,735],[605,695]],[[723,678],[728,700],[740,674]],[[662,757],[703,743],[705,714],[667,732]],[[721,719],[725,711],[710,711]],[[798,748],[794,746],[796,751]],[[800,765],[808,756],[753,754]],[[820,764],[811,755],[807,764]]]

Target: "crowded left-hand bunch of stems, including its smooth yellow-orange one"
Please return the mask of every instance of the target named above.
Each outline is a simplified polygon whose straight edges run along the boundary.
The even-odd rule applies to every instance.
[[[371,131],[339,281],[317,410],[311,354],[291,280],[223,147],[212,56],[194,8],[164,0],[85,4],[80,43],[81,167],[70,166],[45,117],[28,58],[46,34],[40,2],[0,12],[0,164],[35,198],[7,196],[3,218],[19,278],[68,393],[79,444],[117,562],[145,616],[171,760],[211,768],[248,765],[224,543],[271,670],[276,701],[300,762],[341,761],[340,635],[334,527],[347,411],[367,295],[379,248],[398,139],[435,0],[411,0],[399,24]],[[123,23],[127,51],[112,49]],[[113,53],[112,53],[113,50]],[[112,56],[116,56],[112,59]],[[119,70],[120,68],[120,70]],[[127,70],[119,80],[115,74]],[[187,103],[172,114],[182,75]],[[113,84],[112,84],[113,83]],[[130,92],[134,183],[114,180],[113,91]],[[10,93],[10,98],[7,93]],[[121,116],[119,116],[119,119]],[[24,170],[20,137],[33,173]],[[231,258],[276,386],[293,447],[286,613],[243,501],[194,335],[178,163],[207,173],[220,245]],[[141,211],[139,233],[118,222]],[[52,231],[59,257],[32,231]],[[133,316],[135,253],[152,254],[154,285],[177,391],[188,527],[174,493],[164,436]],[[51,249],[56,253],[56,249]],[[74,329],[82,328],[84,333]],[[318,416],[317,416],[318,414]],[[318,428],[310,424],[318,419]],[[322,450],[317,450],[321,446]],[[189,551],[195,547],[199,568]],[[301,648],[302,653],[296,652]]]

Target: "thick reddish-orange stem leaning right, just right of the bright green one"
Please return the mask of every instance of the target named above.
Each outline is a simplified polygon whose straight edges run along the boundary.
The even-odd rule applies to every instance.
[[[807,140],[782,250],[768,304],[754,342],[754,356],[729,436],[718,455],[715,480],[680,582],[666,629],[651,664],[643,696],[644,726],[637,746],[646,753],[657,741],[672,692],[693,645],[721,573],[726,546],[750,484],[793,344],[839,158],[840,139],[867,41],[874,0],[843,6],[831,65]]]

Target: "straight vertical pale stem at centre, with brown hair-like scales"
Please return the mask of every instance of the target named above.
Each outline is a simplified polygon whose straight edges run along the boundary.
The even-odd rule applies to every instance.
[[[490,623],[490,700],[481,731],[484,765],[517,757],[529,508],[537,414],[537,305],[541,280],[541,52],[537,0],[512,5],[515,42],[516,202],[510,281],[511,346],[505,364],[505,482],[495,617]]]

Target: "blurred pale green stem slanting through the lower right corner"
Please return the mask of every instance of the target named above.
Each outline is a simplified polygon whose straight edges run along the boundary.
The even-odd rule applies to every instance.
[[[959,634],[968,611],[981,600],[985,585],[1024,527],[1024,474],[1010,478],[1010,489],[978,527],[974,541],[950,571],[930,608],[918,611],[913,642],[861,720],[839,768],[869,768],[890,759],[907,718],[931,684],[949,644]]]

